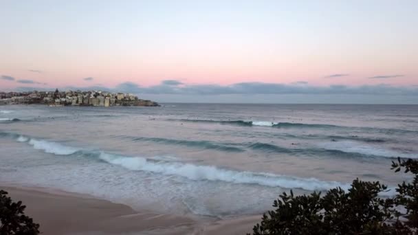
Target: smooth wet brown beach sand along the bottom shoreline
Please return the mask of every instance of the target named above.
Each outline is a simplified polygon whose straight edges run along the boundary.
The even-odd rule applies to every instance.
[[[197,220],[188,216],[135,211],[127,205],[47,188],[5,186],[42,234],[246,234],[261,216]]]

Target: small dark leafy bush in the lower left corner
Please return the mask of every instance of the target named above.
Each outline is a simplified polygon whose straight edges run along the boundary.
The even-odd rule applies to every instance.
[[[13,202],[0,190],[0,235],[35,235],[39,234],[39,224],[25,216],[26,206],[21,201]]]

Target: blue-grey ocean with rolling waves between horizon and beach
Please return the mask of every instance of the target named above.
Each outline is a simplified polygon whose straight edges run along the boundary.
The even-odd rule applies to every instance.
[[[418,158],[417,105],[0,106],[0,185],[90,194],[134,209],[219,219],[282,192],[388,185]]]

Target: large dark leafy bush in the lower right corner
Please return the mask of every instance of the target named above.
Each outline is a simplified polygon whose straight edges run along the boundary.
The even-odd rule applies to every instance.
[[[387,190],[379,182],[359,179],[348,192],[334,188],[323,197],[320,192],[301,196],[284,192],[253,234],[418,234],[418,161],[398,159],[392,169],[414,175],[412,182],[398,185],[393,198],[378,197]]]

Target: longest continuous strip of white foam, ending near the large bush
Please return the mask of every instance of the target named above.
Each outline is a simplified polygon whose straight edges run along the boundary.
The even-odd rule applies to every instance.
[[[303,190],[327,190],[329,188],[349,188],[347,184],[335,181],[320,181],[309,178],[287,177],[270,173],[224,170],[216,166],[197,166],[176,162],[148,161],[144,157],[124,157],[101,153],[100,159],[110,164],[122,166],[129,170],[141,170],[162,175],[177,175],[191,180],[224,181],[228,183],[251,183],[261,186],[280,188],[300,188]]]

